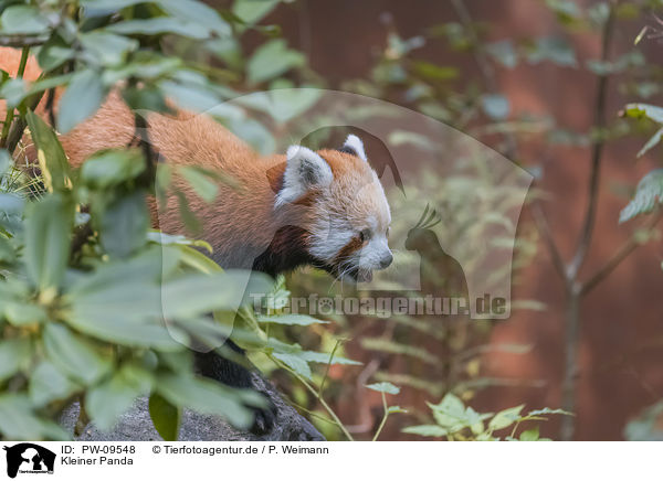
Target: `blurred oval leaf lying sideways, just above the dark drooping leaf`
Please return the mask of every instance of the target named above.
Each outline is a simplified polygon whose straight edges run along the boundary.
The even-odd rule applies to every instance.
[[[144,170],[145,160],[139,150],[104,150],[85,161],[81,181],[91,189],[108,189],[137,178]]]

